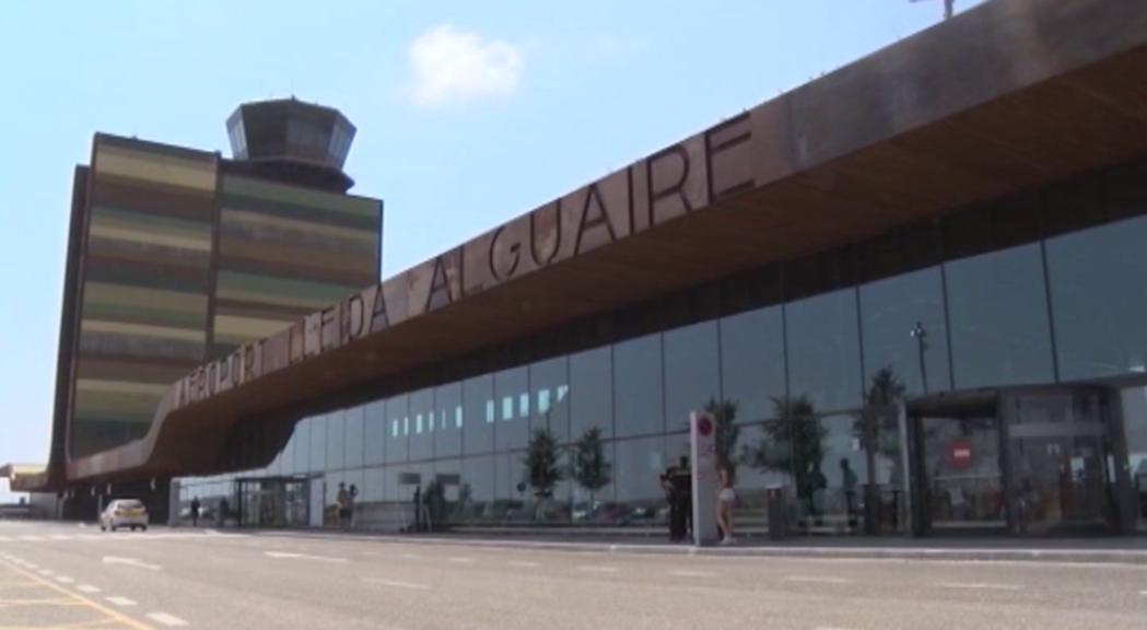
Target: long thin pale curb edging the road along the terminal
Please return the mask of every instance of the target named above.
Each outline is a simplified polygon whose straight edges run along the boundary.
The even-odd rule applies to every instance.
[[[375,536],[368,534],[311,534],[251,531],[256,536],[318,538],[328,540],[369,540],[419,545],[485,547],[505,550],[559,551],[568,553],[624,553],[634,555],[699,555],[716,558],[789,558],[822,560],[921,560],[959,562],[1055,562],[1078,565],[1147,566],[1147,551],[1087,549],[890,549],[890,547],[811,547],[739,546],[695,547],[664,544],[624,544],[555,540],[467,539],[453,537]]]

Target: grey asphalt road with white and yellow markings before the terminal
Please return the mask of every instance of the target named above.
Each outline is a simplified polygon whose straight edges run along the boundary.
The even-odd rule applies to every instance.
[[[0,629],[1147,628],[1147,567],[491,549],[0,521]]]

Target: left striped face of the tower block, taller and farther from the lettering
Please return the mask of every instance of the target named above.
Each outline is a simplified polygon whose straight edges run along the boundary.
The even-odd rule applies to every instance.
[[[86,207],[70,450],[147,431],[206,358],[218,157],[96,137]]]

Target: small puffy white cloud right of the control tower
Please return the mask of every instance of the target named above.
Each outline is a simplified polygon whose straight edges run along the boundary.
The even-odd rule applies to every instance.
[[[419,36],[408,50],[415,103],[438,107],[506,96],[517,90],[522,53],[442,24]]]

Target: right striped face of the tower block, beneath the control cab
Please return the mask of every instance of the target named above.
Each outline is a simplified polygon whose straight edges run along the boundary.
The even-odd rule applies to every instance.
[[[220,188],[213,356],[377,282],[379,201],[239,176]]]

